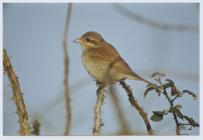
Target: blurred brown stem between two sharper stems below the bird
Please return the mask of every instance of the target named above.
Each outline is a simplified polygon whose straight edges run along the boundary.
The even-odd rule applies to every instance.
[[[109,86],[109,94],[110,94],[110,97],[114,104],[114,107],[115,107],[115,110],[117,113],[117,117],[119,119],[119,124],[121,127],[121,131],[119,133],[125,134],[125,135],[131,134],[130,127],[125,119],[125,115],[123,114],[122,108],[120,106],[118,95],[116,94],[115,88],[112,84]]]

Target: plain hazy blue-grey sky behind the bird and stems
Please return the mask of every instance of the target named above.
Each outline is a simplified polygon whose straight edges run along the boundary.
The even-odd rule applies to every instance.
[[[199,26],[197,3],[129,3],[120,6],[160,23]],[[40,121],[41,135],[64,133],[66,115],[62,42],[66,13],[67,4],[3,4],[3,45],[19,77],[29,121]],[[198,32],[154,28],[127,17],[110,3],[74,3],[68,31],[72,105],[70,135],[92,135],[97,88],[83,68],[80,46],[73,42],[87,31],[99,32],[142,77],[152,81],[152,73],[164,73],[180,90],[188,89],[196,93],[197,101],[184,96],[177,103],[183,105],[184,114],[199,122]],[[154,110],[167,109],[165,97],[155,94],[143,97],[145,83],[130,80],[127,83],[149,117]],[[18,135],[18,116],[15,114],[15,104],[10,100],[12,90],[8,85],[4,74],[3,134]],[[116,88],[129,129],[135,135],[147,134],[142,118],[130,105],[124,90],[119,85]],[[102,118],[102,134],[117,134],[120,130],[119,119],[108,93],[102,107]],[[176,134],[170,115],[161,122],[151,121],[151,125],[157,135]],[[199,128],[185,133],[198,135]]]

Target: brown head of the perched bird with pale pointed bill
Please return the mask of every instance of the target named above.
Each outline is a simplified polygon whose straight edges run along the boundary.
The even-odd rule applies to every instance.
[[[79,43],[83,50],[87,50],[99,47],[104,42],[104,39],[99,33],[87,32],[74,42]]]

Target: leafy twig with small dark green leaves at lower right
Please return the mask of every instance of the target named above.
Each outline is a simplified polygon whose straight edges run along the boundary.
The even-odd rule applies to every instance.
[[[184,115],[180,111],[180,109],[182,108],[181,104],[174,105],[174,101],[177,98],[181,98],[184,93],[187,93],[188,95],[191,95],[193,97],[193,99],[196,99],[196,95],[193,92],[189,91],[189,90],[183,90],[182,92],[180,92],[177,89],[175,83],[170,79],[166,79],[165,83],[163,84],[162,81],[161,81],[162,76],[163,75],[161,75],[160,73],[154,73],[152,75],[152,78],[154,78],[154,80],[156,80],[160,85],[160,86],[156,86],[156,87],[161,87],[162,91],[161,92],[157,91],[156,87],[148,87],[147,91],[150,91],[151,89],[155,89],[156,92],[159,92],[159,95],[160,95],[160,93],[162,93],[166,97],[166,99],[167,99],[170,106],[169,106],[169,109],[167,109],[167,110],[153,111],[153,115],[151,116],[151,120],[153,120],[153,121],[161,121],[163,119],[164,115],[167,115],[169,113],[172,114],[174,122],[176,124],[176,135],[182,135],[180,133],[181,129],[182,129],[181,126],[190,125],[191,128],[188,129],[188,130],[191,130],[192,127],[199,127],[199,124],[197,122],[195,122],[195,120],[193,118]],[[171,88],[170,95],[167,92],[167,88]],[[147,92],[145,91],[145,93],[147,93]],[[182,121],[186,120],[187,123],[180,123],[179,119],[181,119]]]

